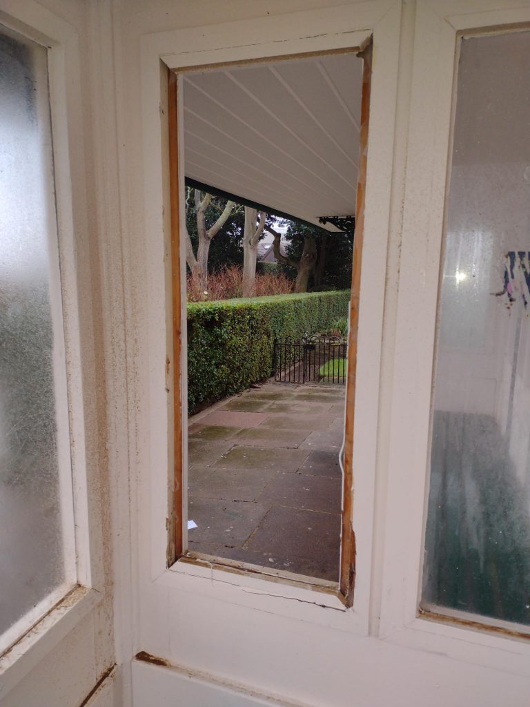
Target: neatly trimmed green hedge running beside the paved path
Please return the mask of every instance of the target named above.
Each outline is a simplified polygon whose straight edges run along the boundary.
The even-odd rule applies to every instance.
[[[189,303],[189,412],[269,378],[274,339],[326,329],[349,300],[343,290]]]

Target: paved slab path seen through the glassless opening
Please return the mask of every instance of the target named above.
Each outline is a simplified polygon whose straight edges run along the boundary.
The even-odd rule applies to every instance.
[[[190,419],[190,551],[338,580],[345,392],[266,383]]]

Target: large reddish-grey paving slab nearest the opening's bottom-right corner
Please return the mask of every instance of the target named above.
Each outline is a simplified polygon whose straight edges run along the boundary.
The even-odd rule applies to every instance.
[[[307,561],[329,556],[338,568],[340,536],[339,513],[317,513],[302,508],[273,506],[244,547],[293,563],[296,559]]]

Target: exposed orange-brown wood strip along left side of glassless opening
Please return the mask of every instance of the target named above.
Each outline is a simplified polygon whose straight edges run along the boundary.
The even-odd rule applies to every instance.
[[[175,438],[174,493],[175,514],[170,520],[173,525],[174,549],[172,559],[178,559],[183,552],[182,524],[182,330],[180,295],[180,251],[179,251],[179,137],[177,123],[177,74],[167,72],[167,120],[170,147],[170,218],[171,218],[171,291],[173,329],[173,434]],[[168,564],[172,564],[169,559]]]

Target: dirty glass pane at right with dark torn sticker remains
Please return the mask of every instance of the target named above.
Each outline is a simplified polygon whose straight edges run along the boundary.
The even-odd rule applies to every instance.
[[[530,33],[463,40],[423,606],[530,624]],[[448,611],[449,610],[449,611]]]

